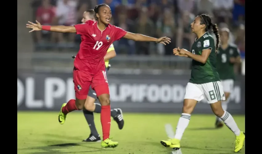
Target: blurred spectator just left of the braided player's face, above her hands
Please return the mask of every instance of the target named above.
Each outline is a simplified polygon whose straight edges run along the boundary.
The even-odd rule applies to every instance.
[[[189,49],[195,40],[195,34],[191,31],[191,22],[194,21],[194,14],[184,12],[178,23],[177,47]]]

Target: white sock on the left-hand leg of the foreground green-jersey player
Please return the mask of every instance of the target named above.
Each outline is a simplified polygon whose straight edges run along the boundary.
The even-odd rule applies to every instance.
[[[190,121],[191,115],[187,113],[182,113],[179,120],[178,120],[178,125],[176,128],[176,133],[175,133],[175,139],[181,140],[183,133],[185,132],[189,121]]]

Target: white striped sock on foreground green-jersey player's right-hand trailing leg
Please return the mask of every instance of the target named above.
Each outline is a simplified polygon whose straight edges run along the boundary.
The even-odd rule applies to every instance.
[[[230,113],[227,111],[224,112],[224,114],[220,117],[221,120],[224,121],[225,125],[232,131],[236,136],[240,135],[240,130],[237,127],[237,124],[235,123],[234,118]]]

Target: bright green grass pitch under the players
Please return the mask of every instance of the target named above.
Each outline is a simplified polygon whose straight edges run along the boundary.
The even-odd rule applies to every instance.
[[[160,140],[166,140],[165,124],[176,128],[179,114],[124,113],[125,126],[119,130],[112,121],[111,134],[119,146],[101,149],[100,143],[82,143],[89,127],[82,112],[68,114],[65,124],[58,123],[58,112],[17,113],[18,154],[170,154]],[[236,123],[245,131],[244,115],[235,115]],[[100,115],[95,114],[96,127],[102,136]],[[234,151],[234,134],[227,128],[213,129],[214,115],[192,115],[182,141],[183,154],[230,154]],[[175,131],[175,130],[174,130]],[[70,144],[69,144],[70,143]],[[244,153],[244,148],[240,153]]]

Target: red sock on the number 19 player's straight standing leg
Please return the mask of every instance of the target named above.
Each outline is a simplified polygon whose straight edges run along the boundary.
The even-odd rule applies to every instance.
[[[109,138],[111,126],[111,107],[110,105],[101,106],[100,120],[102,124],[103,140]]]

